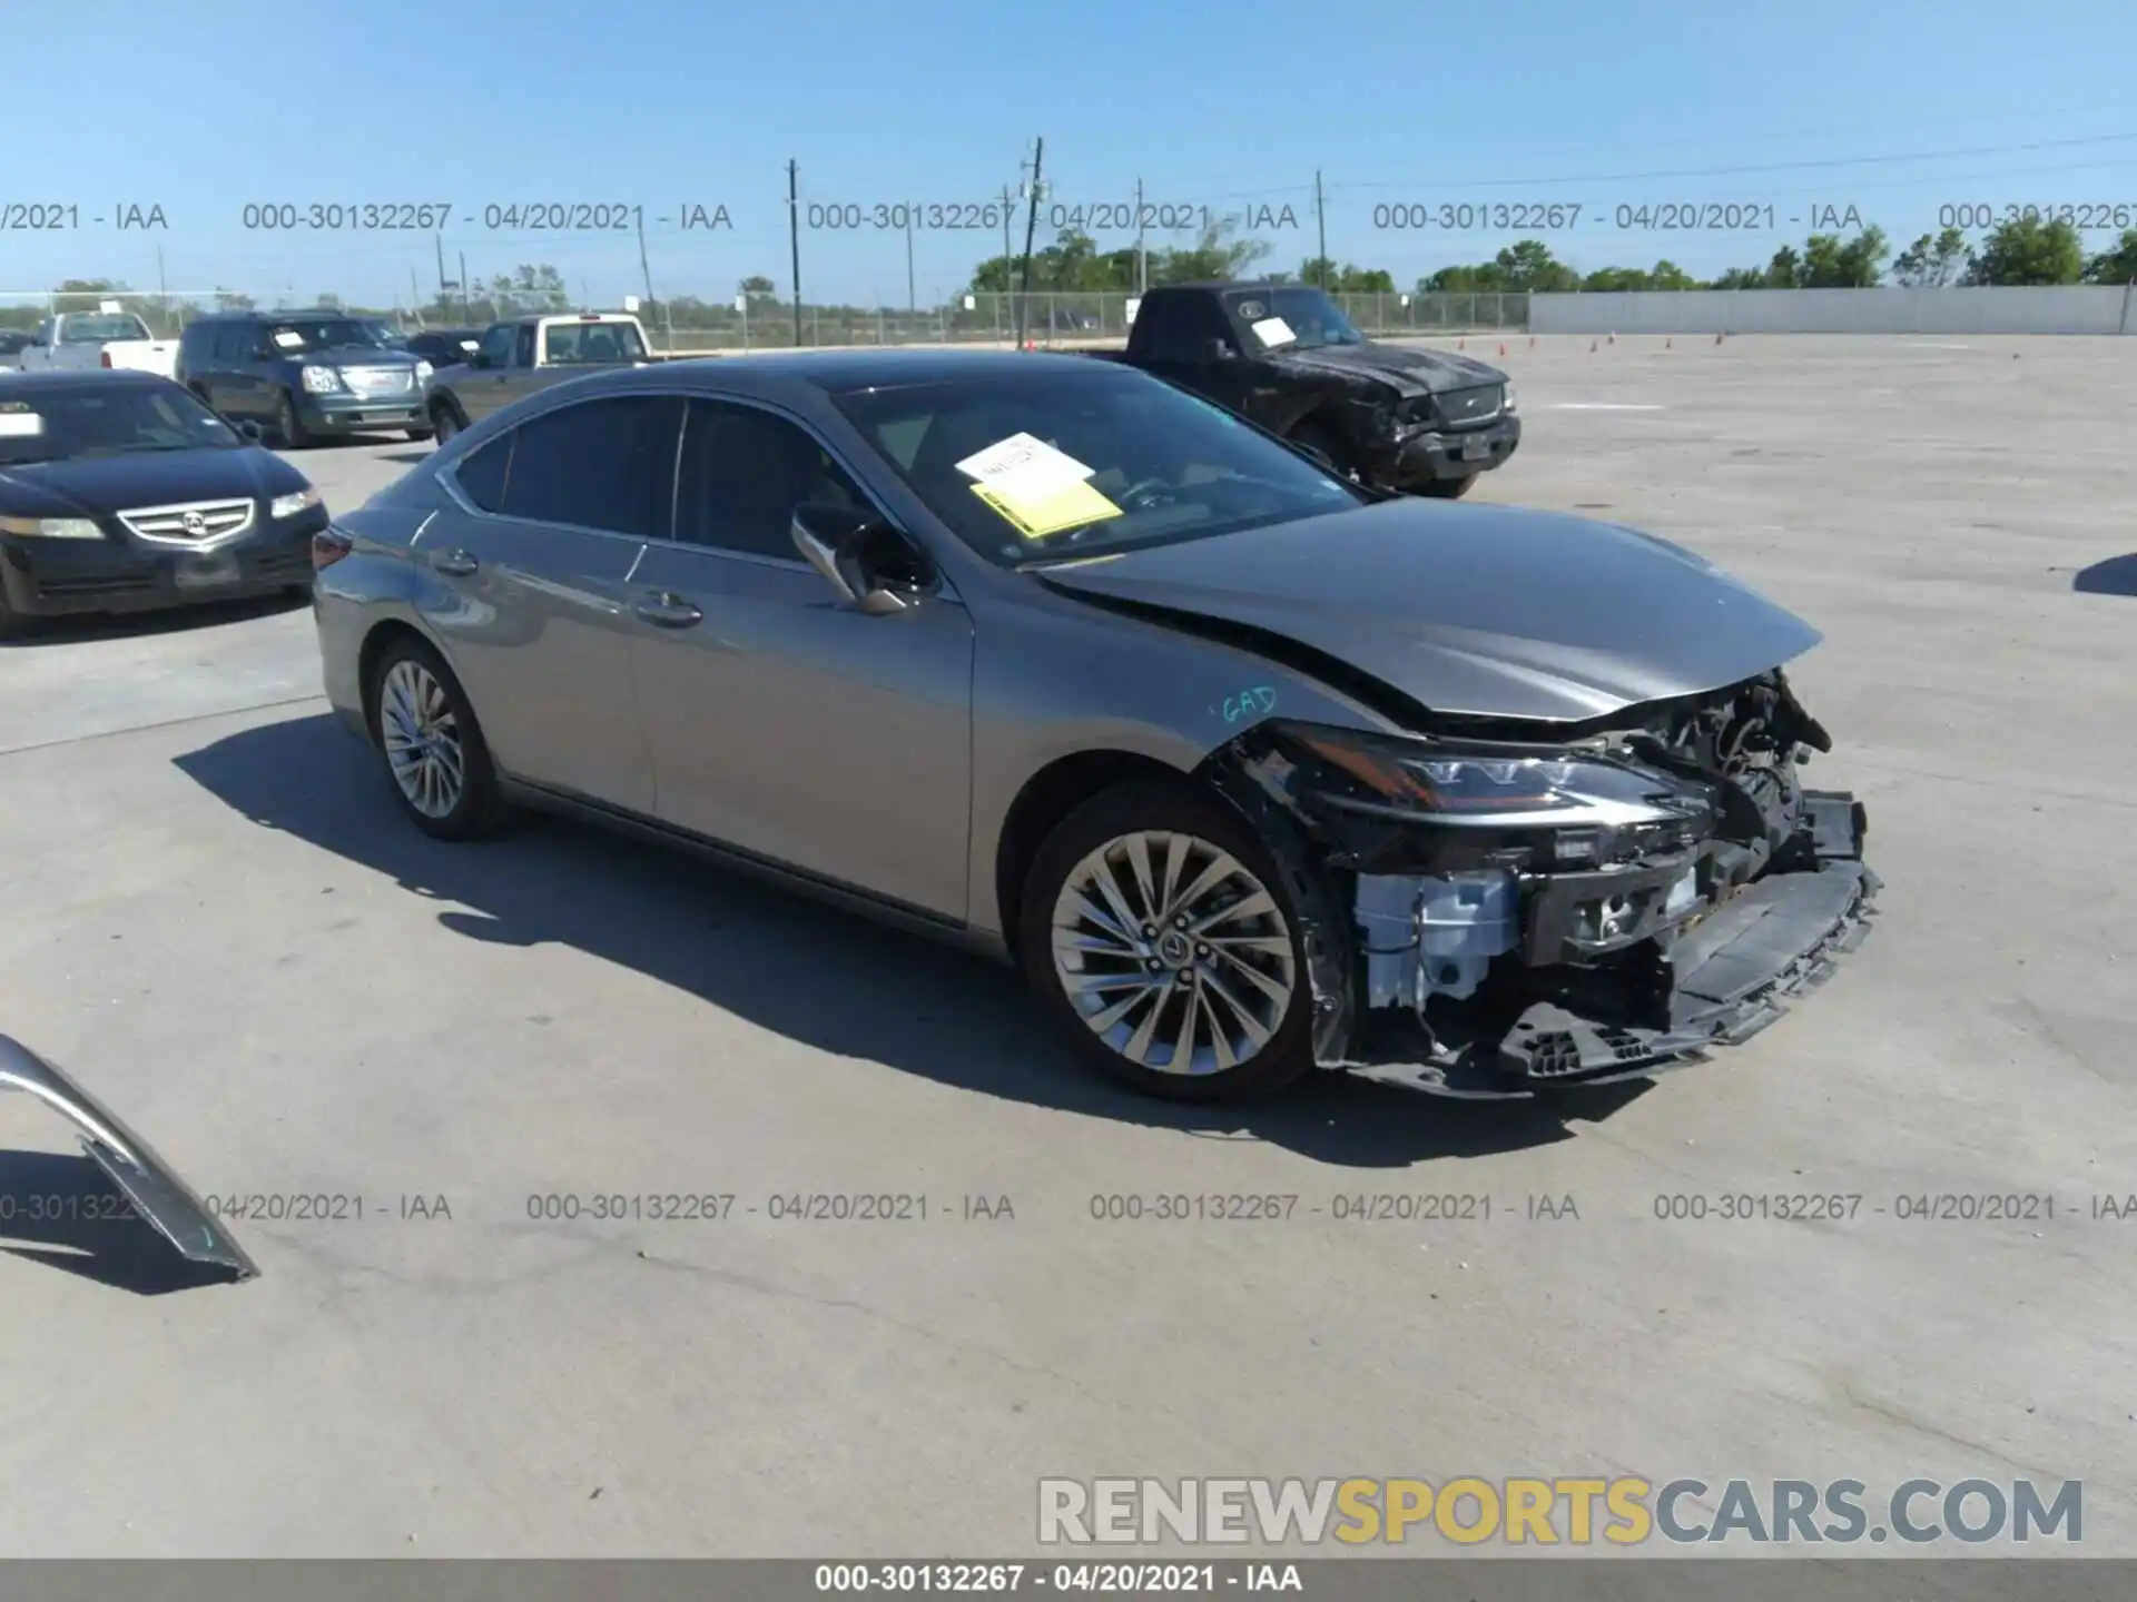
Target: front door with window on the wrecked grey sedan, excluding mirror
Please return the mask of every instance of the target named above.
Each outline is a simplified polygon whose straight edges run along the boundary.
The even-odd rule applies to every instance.
[[[799,423],[690,402],[675,538],[630,579],[658,816],[964,923],[970,615],[842,602],[793,545],[804,500],[865,504]]]

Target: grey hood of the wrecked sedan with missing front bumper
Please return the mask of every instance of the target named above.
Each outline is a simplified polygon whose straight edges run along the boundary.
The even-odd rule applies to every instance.
[[[1821,634],[1669,540],[1515,506],[1389,500],[1039,568],[1056,590],[1254,630],[1428,711],[1586,722],[1718,690]],[[1321,669],[1325,671],[1325,669]]]

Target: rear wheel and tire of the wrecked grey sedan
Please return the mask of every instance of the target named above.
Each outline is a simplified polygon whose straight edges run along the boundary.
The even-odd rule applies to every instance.
[[[408,820],[434,839],[481,839],[504,822],[498,773],[468,692],[430,645],[397,639],[365,688],[372,743]]]

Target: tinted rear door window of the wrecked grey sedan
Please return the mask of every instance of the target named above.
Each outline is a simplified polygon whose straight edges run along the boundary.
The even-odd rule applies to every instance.
[[[682,397],[611,395],[517,429],[504,515],[665,538]]]

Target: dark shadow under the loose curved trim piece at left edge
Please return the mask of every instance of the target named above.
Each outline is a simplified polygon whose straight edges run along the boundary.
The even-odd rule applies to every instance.
[[[137,1297],[231,1282],[229,1269],[180,1256],[94,1162],[56,1151],[0,1149],[0,1252]]]

